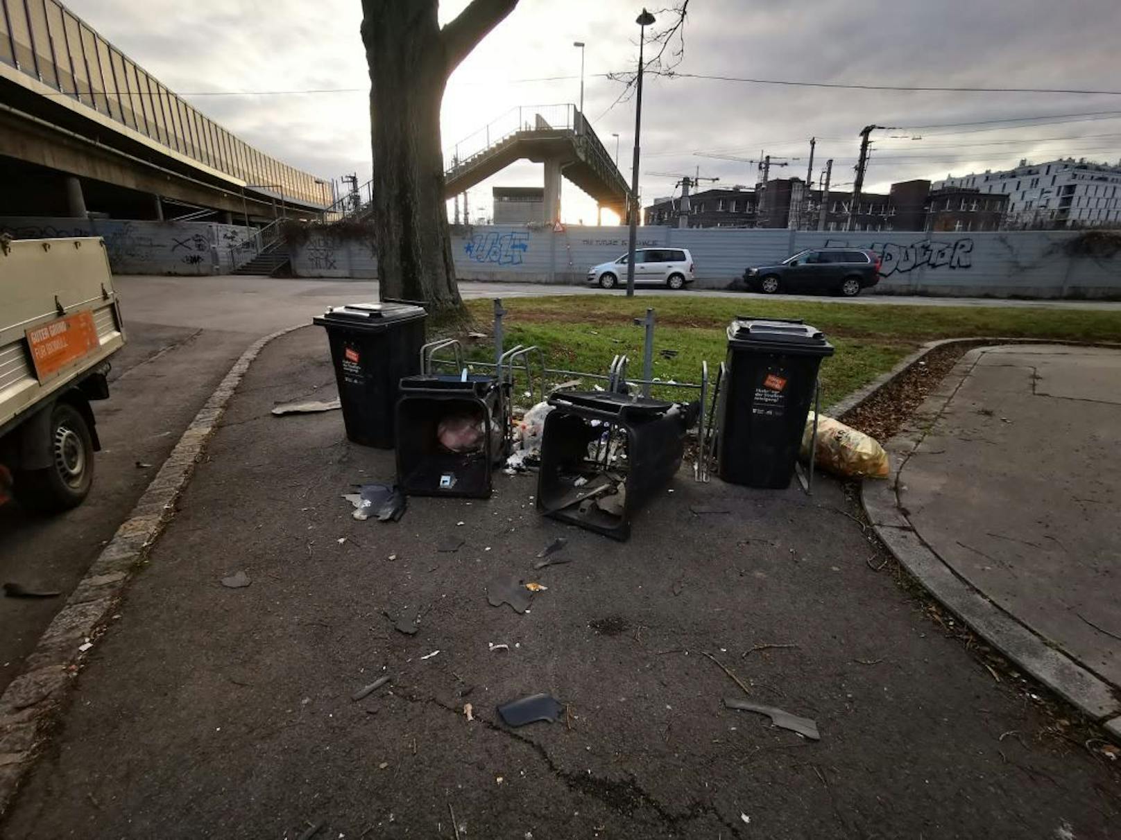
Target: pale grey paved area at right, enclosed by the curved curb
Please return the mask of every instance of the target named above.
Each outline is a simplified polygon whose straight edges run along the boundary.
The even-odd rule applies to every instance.
[[[900,547],[905,563],[912,564],[908,553],[933,552],[999,608],[995,619],[1003,614],[1030,632],[1008,645],[1013,659],[1087,713],[1117,715],[1121,351],[976,349],[919,414],[912,426],[928,428],[891,447],[900,455],[895,492],[865,494],[881,534],[895,544],[902,532],[890,517],[901,515],[921,543]],[[918,563],[911,571],[921,579]],[[937,582],[924,582],[938,594]],[[994,633],[973,626],[992,638],[1003,633],[999,624]],[[1055,672],[1047,662],[1062,666],[1058,655],[1084,673]]]

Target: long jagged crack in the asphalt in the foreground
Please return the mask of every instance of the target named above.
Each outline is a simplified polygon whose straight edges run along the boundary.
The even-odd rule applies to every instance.
[[[418,703],[421,706],[435,706],[455,715],[457,718],[462,717],[462,712],[454,706],[448,706],[441,702],[435,697],[423,698],[415,697],[410,694],[405,694],[401,692],[395,692],[393,697],[399,697],[402,700],[407,700],[410,703]],[[604,805],[606,805],[612,811],[620,813],[624,816],[630,816],[636,810],[640,808],[649,809],[654,811],[663,822],[669,825],[676,825],[682,822],[691,822],[693,820],[700,819],[702,816],[712,816],[716,822],[723,825],[725,829],[733,833],[739,833],[740,827],[733,822],[725,820],[720,811],[716,810],[715,805],[694,801],[683,812],[674,812],[666,808],[658,799],[650,793],[648,793],[638,782],[634,781],[634,776],[630,777],[626,782],[602,778],[600,776],[593,775],[581,775],[580,773],[572,773],[559,767],[553,757],[548,754],[540,744],[531,740],[524,735],[519,735],[511,729],[501,727],[484,718],[475,718],[475,720],[482,724],[487,729],[501,732],[513,740],[520,741],[528,747],[531,747],[541,760],[545,762],[549,771],[559,778],[568,790],[574,793],[584,794],[591,796],[592,799],[599,800]]]

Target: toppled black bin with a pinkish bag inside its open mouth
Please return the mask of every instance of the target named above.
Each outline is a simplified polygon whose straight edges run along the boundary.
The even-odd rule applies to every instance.
[[[411,496],[491,493],[507,455],[509,384],[493,376],[424,374],[400,382],[397,483]]]

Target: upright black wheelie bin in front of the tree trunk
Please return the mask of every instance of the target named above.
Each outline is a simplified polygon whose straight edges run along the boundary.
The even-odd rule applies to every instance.
[[[314,319],[327,330],[343,424],[355,444],[392,449],[397,385],[420,372],[425,317],[418,306],[348,304]]]

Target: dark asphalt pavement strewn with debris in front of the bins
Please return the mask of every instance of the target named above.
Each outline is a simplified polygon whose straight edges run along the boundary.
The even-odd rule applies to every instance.
[[[1117,768],[873,570],[837,484],[683,472],[622,544],[543,520],[534,478],[501,474],[491,500],[356,522],[340,494],[391,478],[392,452],[348,444],[337,413],[269,414],[333,395],[322,330],[262,352],[4,838],[452,838],[453,810],[467,838],[1115,833]],[[556,535],[572,562],[534,571]],[[238,570],[251,585],[224,588]],[[499,573],[548,589],[494,608]],[[414,636],[386,617],[408,606]],[[740,689],[704,653],[822,739],[724,709]],[[568,716],[499,722],[535,692]]]

